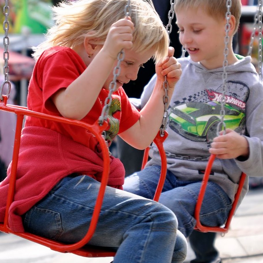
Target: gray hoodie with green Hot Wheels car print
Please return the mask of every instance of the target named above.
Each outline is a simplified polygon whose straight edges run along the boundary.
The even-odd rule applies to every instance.
[[[263,176],[263,82],[251,63],[251,57],[238,57],[227,66],[225,123],[245,136],[249,142],[249,158],[215,159],[210,180],[218,183],[231,200],[238,187],[241,171],[248,176]],[[202,180],[211,140],[217,136],[221,117],[223,67],[207,70],[189,57],[180,58],[182,75],[177,82],[169,106],[167,132],[164,141],[167,169],[183,181]],[[141,107],[149,99],[156,75],[141,96]],[[160,165],[157,147],[150,150],[152,158],[146,166]],[[245,181],[239,204],[248,190]]]

